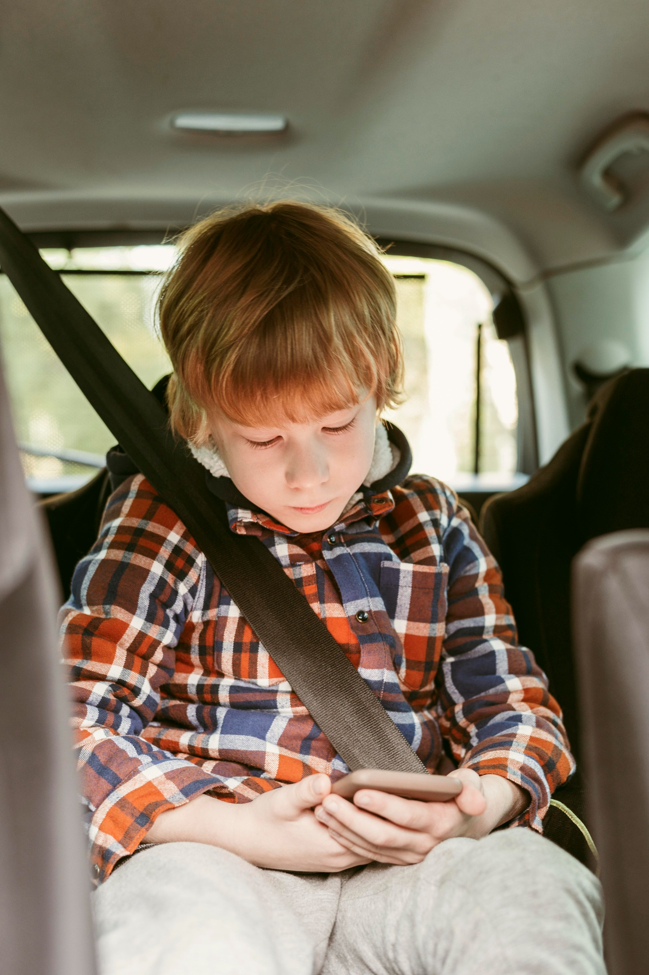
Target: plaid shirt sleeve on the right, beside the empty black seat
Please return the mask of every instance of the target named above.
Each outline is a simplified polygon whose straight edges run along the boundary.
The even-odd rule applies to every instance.
[[[554,790],[575,770],[561,711],[534,654],[518,645],[496,560],[448,488],[445,498],[442,545],[449,573],[438,685],[442,734],[463,767],[502,775],[526,790],[529,808],[512,825],[542,832]]]

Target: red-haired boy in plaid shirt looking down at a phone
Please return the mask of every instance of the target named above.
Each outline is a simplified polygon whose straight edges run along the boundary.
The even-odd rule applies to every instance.
[[[574,769],[559,708],[467,512],[407,476],[378,419],[401,346],[373,242],[297,203],[212,215],[160,325],[172,428],[231,529],[463,790],[333,796],[344,762],[184,526],[127,479],[62,612],[102,971],[603,972],[598,883],[540,836]]]

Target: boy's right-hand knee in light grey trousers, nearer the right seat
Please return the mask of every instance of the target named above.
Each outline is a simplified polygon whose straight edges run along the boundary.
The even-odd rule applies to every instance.
[[[551,840],[524,828],[451,839],[425,865],[439,970],[515,972],[530,958],[525,971],[604,972],[599,881]]]

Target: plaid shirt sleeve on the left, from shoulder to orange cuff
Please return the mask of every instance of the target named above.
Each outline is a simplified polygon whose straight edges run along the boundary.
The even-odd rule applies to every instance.
[[[141,476],[110,499],[60,613],[95,880],[161,812],[218,784],[140,736],[172,678],[205,557]]]

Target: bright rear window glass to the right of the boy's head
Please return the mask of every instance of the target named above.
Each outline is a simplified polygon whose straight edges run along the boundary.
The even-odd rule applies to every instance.
[[[384,259],[397,282],[407,397],[389,418],[410,441],[413,470],[458,489],[510,487],[515,372],[507,342],[491,320],[490,293],[458,264],[390,254]]]

